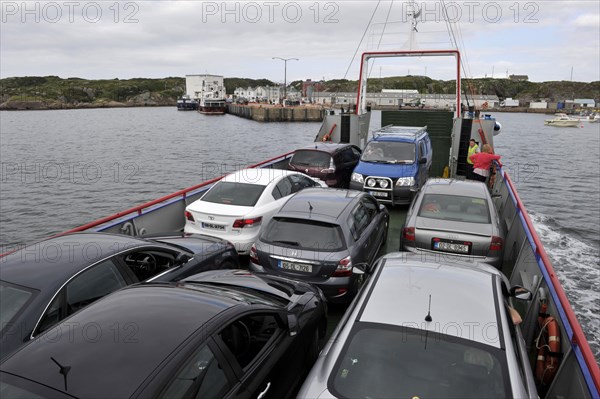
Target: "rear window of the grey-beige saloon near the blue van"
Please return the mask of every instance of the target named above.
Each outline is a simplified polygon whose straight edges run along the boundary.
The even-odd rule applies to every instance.
[[[485,198],[460,195],[425,194],[418,216],[468,223],[491,223],[490,209]]]

